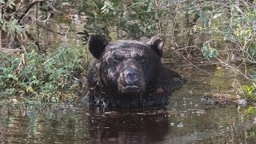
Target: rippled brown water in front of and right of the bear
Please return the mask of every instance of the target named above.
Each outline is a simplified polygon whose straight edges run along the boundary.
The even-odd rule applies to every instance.
[[[182,59],[170,51],[163,60],[188,80],[171,95],[165,109],[90,110],[82,104],[1,103],[0,143],[256,142],[255,116],[245,117],[233,106],[215,106],[207,97],[233,94],[236,74],[203,58],[194,63],[197,67]]]

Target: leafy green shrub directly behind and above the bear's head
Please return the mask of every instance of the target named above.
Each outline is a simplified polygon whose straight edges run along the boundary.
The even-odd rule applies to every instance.
[[[84,0],[82,11],[88,16],[84,26],[87,36],[98,33],[112,39],[138,39],[158,33],[157,24],[164,9],[157,6],[156,2],[148,0]]]

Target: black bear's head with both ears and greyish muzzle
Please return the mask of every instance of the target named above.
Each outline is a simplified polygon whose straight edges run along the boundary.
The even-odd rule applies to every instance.
[[[89,39],[90,53],[97,58],[98,86],[121,95],[139,95],[154,87],[162,66],[160,38],[150,42],[108,42],[102,35]]]

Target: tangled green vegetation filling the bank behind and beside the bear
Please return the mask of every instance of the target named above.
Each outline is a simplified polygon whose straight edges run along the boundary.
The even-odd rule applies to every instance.
[[[199,50],[203,58],[245,78],[237,91],[254,102],[255,6],[245,0],[0,0],[0,98],[74,101],[85,89],[90,66],[87,39],[103,34],[111,41],[158,35],[183,58]],[[197,34],[205,39],[195,45]],[[50,45],[47,37],[61,41]]]

